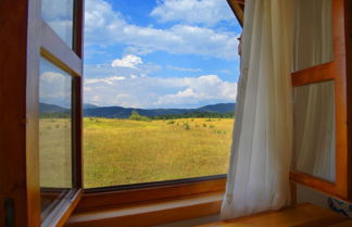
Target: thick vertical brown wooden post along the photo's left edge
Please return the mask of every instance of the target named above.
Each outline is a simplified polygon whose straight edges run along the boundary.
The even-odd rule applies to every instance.
[[[30,66],[35,61],[37,0],[2,0],[0,4],[0,226],[40,226],[38,159]],[[36,15],[38,14],[38,15]],[[29,140],[30,139],[30,140]],[[13,207],[13,211],[11,209]],[[13,212],[13,214],[12,214]]]

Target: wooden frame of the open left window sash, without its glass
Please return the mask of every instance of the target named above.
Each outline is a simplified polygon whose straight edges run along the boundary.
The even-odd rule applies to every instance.
[[[83,196],[81,75],[84,0],[74,4],[71,49],[41,18],[40,0],[4,0],[0,4],[2,111],[0,142],[0,225],[63,226]],[[46,58],[73,79],[73,163],[75,188],[41,219],[39,184],[39,62]],[[4,206],[7,204],[7,207]]]

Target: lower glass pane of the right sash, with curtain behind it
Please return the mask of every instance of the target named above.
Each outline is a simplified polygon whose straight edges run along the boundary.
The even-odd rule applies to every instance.
[[[334,81],[296,87],[293,168],[335,181]]]

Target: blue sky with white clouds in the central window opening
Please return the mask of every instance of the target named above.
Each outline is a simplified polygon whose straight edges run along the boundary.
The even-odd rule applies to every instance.
[[[84,101],[235,102],[241,33],[225,0],[86,0]]]

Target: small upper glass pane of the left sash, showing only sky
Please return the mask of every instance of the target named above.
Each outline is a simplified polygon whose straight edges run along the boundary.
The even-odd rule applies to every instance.
[[[73,43],[74,0],[41,0],[41,17],[70,46]]]

